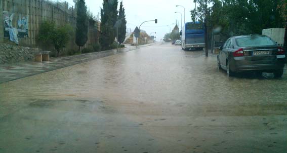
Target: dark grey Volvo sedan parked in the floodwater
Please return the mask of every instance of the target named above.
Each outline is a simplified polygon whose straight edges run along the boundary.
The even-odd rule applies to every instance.
[[[272,72],[280,78],[285,65],[285,52],[265,35],[240,35],[230,37],[220,47],[217,63],[228,76],[236,72]]]

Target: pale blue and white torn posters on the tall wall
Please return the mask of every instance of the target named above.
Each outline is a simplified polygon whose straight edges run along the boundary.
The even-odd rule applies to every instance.
[[[18,44],[18,38],[28,37],[29,23],[28,16],[19,15],[17,25],[13,26],[14,13],[3,11],[4,37],[9,37],[10,41]],[[16,28],[17,27],[17,28]]]

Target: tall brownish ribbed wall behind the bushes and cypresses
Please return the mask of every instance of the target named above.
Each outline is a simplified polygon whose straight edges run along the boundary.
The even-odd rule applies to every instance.
[[[56,25],[70,24],[76,27],[76,12],[68,3],[52,3],[45,0],[0,0],[0,41],[8,40],[9,32],[3,30],[7,17],[13,17],[12,26],[18,30],[19,45],[36,47],[36,37],[40,24],[45,20],[51,20]],[[3,12],[3,13],[2,13]],[[27,25],[26,25],[27,23]],[[98,42],[97,26],[89,26],[89,38],[85,48],[91,48]],[[19,32],[20,31],[20,32]],[[4,34],[3,34],[4,32]],[[76,49],[74,39],[68,43],[67,48]]]

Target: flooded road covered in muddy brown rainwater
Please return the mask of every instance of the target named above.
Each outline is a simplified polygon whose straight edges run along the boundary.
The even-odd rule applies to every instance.
[[[286,90],[153,45],[0,84],[0,152],[286,152]]]

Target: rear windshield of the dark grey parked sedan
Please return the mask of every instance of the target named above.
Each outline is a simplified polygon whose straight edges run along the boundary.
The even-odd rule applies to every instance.
[[[269,37],[266,37],[266,36],[241,37],[235,40],[236,40],[237,46],[239,47],[276,45]]]

